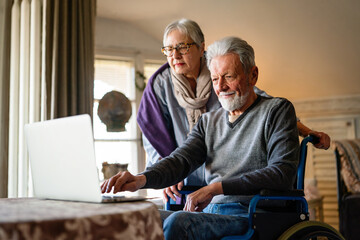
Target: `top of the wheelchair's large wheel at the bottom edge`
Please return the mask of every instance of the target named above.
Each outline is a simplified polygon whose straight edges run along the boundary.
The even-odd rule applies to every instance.
[[[345,240],[345,238],[326,223],[304,221],[290,227],[278,240]]]

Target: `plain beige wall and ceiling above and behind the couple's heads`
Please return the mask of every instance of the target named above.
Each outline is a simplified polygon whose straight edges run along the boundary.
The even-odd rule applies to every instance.
[[[241,37],[255,49],[258,86],[273,95],[360,94],[357,0],[98,0],[97,16],[126,22],[160,42],[166,25],[180,18],[199,23],[206,45]]]

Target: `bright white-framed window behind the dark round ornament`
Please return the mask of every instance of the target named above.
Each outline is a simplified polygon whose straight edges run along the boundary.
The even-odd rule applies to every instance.
[[[137,162],[136,137],[136,108],[135,108],[135,86],[134,86],[134,63],[124,60],[95,60],[95,82],[94,82],[94,139],[95,154],[100,179],[102,163],[128,164],[128,169],[134,168]],[[112,90],[123,93],[132,105],[132,116],[125,125],[124,132],[107,132],[106,126],[101,122],[97,109],[100,99]]]

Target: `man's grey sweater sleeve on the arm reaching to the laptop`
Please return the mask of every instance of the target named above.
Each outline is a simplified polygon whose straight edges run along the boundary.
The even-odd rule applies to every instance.
[[[181,147],[141,173],[146,176],[143,188],[159,189],[174,185],[200,167],[206,160],[204,134],[200,117]]]

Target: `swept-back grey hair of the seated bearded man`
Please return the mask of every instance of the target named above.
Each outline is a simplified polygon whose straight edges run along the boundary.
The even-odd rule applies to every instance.
[[[214,57],[224,56],[229,53],[239,55],[245,73],[249,73],[251,68],[255,66],[254,49],[245,40],[238,37],[225,37],[215,41],[207,48],[206,60],[208,68],[210,69],[210,63]]]

